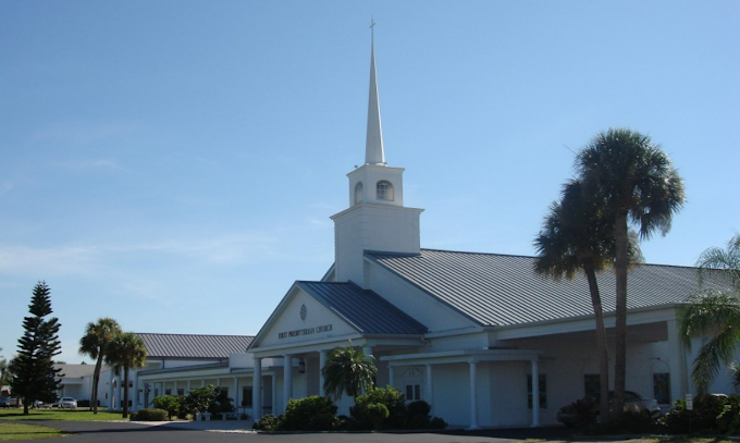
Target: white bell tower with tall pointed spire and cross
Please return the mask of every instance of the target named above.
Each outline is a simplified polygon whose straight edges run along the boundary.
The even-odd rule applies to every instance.
[[[374,23],[371,24],[372,29]],[[371,37],[370,95],[365,164],[347,174],[349,208],[332,216],[336,281],[353,281],[365,288],[366,250],[420,253],[419,216],[423,209],[404,207],[403,168],[385,162],[380,100],[375,78],[375,48]]]

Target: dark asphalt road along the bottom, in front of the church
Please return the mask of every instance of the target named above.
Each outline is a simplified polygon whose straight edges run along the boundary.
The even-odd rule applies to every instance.
[[[564,428],[448,431],[445,433],[252,433],[238,430],[203,430],[199,429],[197,423],[176,422],[158,426],[107,421],[34,421],[33,423],[75,433],[63,439],[63,443],[505,443],[527,439],[550,442],[572,441],[572,436]],[[50,443],[53,440],[37,441]],[[630,441],[630,443],[636,443],[636,441]]]

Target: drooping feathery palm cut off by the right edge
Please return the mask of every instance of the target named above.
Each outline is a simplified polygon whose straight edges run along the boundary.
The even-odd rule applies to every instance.
[[[727,243],[727,249],[706,249],[699,257],[696,267],[702,288],[679,310],[678,324],[687,347],[691,347],[692,337],[712,334],[699,350],[691,372],[693,384],[702,394],[717,376],[720,362],[730,365],[740,346],[740,235]],[[703,287],[711,278],[715,283],[718,279],[726,290]],[[730,365],[730,368],[737,387],[738,366]]]

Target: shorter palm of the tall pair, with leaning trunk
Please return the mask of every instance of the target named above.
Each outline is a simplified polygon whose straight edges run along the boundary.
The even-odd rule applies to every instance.
[[[602,418],[608,418],[608,348],[604,310],[596,282],[596,272],[614,263],[615,238],[613,226],[599,217],[599,207],[583,198],[582,185],[571,180],[563,186],[562,199],[554,202],[534,239],[538,256],[534,271],[555,281],[572,280],[582,270],[596,322],[596,354],[599,359],[600,403]],[[630,258],[640,261],[637,242],[630,242]]]

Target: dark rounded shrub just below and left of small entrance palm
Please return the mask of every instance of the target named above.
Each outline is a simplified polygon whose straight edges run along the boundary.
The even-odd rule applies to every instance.
[[[312,395],[291,398],[281,417],[279,429],[285,431],[326,431],[333,429],[336,406],[331,398]],[[319,418],[319,417],[322,418]],[[328,419],[331,416],[331,420]]]

